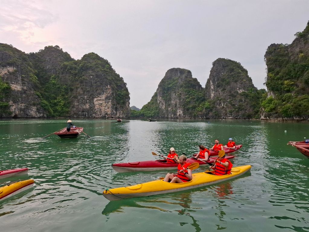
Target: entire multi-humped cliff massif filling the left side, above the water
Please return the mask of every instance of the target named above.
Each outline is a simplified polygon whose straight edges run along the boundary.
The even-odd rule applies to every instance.
[[[0,76],[4,85],[10,85],[3,104],[9,103],[11,110],[11,114],[1,114],[1,85],[1,116],[96,118],[130,114],[126,83],[95,53],[75,61],[57,45],[25,54],[0,44]]]

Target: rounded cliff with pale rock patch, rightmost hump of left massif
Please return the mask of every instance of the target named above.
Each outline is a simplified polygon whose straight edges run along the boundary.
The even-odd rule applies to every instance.
[[[73,69],[72,69],[73,67]],[[75,117],[129,117],[129,91],[110,63],[95,53],[64,63],[60,82],[70,89],[70,115]]]

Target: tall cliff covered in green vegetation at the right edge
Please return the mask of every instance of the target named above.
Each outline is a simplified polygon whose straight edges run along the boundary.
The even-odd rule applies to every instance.
[[[309,21],[295,36],[291,45],[271,44],[265,53],[270,96],[262,107],[287,118],[309,116]]]

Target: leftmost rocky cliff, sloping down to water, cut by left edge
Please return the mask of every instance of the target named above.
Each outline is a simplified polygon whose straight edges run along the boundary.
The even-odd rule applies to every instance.
[[[35,94],[39,83],[27,54],[7,44],[0,44],[0,78],[11,90],[3,101],[11,113],[1,117],[45,117],[40,99]]]

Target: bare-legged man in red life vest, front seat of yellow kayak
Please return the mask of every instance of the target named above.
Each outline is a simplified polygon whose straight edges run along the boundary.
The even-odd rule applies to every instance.
[[[175,173],[167,173],[164,181],[165,182],[170,182],[170,183],[183,183],[183,182],[188,182],[190,180],[192,180],[192,172],[191,169],[186,169],[187,167],[189,167],[190,163],[186,162],[187,157],[185,155],[181,155],[179,157],[179,164],[177,167],[177,174]],[[176,175],[176,176],[174,176]]]

